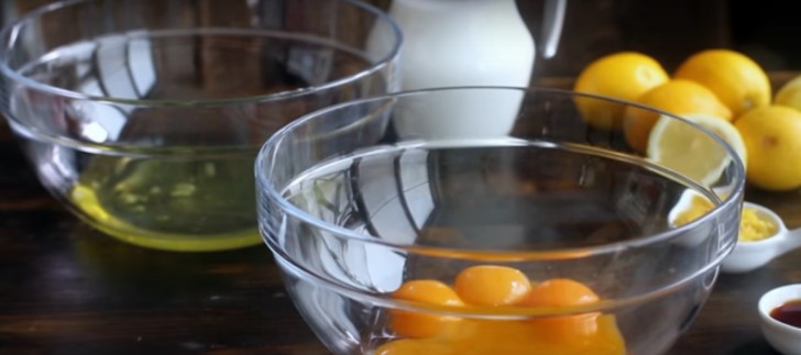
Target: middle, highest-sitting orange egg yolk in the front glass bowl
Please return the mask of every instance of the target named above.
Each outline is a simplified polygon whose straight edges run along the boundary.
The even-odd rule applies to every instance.
[[[468,267],[453,281],[457,295],[473,306],[509,306],[526,298],[531,289],[528,277],[506,266]]]

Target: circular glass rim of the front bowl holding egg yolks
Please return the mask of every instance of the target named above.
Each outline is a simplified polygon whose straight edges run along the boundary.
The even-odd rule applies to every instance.
[[[255,177],[256,177],[256,195],[257,196],[266,196],[268,199],[273,200],[278,208],[287,215],[290,215],[294,219],[297,219],[299,221],[303,221],[304,223],[307,223],[314,228],[325,230],[329,232],[331,235],[343,238],[343,240],[354,240],[354,241],[361,241],[365,244],[372,244],[372,245],[380,245],[383,247],[389,247],[389,248],[396,248],[396,249],[403,249],[408,251],[410,253],[415,254],[425,254],[425,252],[429,252],[431,255],[450,255],[450,257],[459,258],[458,255],[460,253],[468,254],[468,257],[464,257],[465,259],[474,259],[476,256],[495,256],[495,257],[485,257],[485,259],[491,260],[493,258],[497,258],[497,255],[504,255],[504,257],[497,258],[500,260],[504,262],[520,262],[520,260],[536,260],[536,259],[563,259],[563,258],[570,258],[570,255],[579,255],[579,257],[586,257],[591,255],[600,255],[600,254],[607,254],[607,253],[615,253],[628,248],[635,248],[635,247],[643,247],[647,245],[652,245],[659,242],[663,242],[666,240],[670,240],[677,235],[683,235],[689,230],[695,228],[699,224],[706,223],[711,219],[717,217],[721,211],[731,209],[732,207],[738,204],[738,202],[742,200],[743,197],[743,190],[745,187],[745,167],[743,166],[743,163],[738,158],[732,159],[732,163],[735,166],[734,170],[734,185],[732,186],[732,191],[726,196],[724,199],[721,200],[720,204],[716,204],[712,210],[706,212],[706,214],[702,215],[699,219],[695,219],[691,221],[690,223],[680,225],[678,228],[673,228],[670,230],[661,231],[655,234],[648,234],[644,235],[641,237],[637,237],[634,240],[627,240],[627,241],[621,241],[621,242],[614,242],[610,244],[603,244],[603,245],[593,245],[593,246],[583,246],[583,247],[573,247],[573,248],[556,248],[556,249],[548,249],[548,251],[527,251],[527,252],[509,252],[509,251],[493,251],[493,249],[482,249],[482,251],[460,251],[460,249],[453,249],[448,247],[432,247],[432,246],[416,246],[414,244],[401,244],[401,243],[392,243],[386,241],[381,241],[374,237],[371,237],[369,234],[362,234],[356,233],[354,231],[348,230],[345,228],[336,225],[333,223],[320,221],[319,219],[315,218],[308,212],[305,212],[304,210],[299,209],[295,204],[293,204],[289,200],[283,197],[281,191],[276,188],[276,186],[266,177],[267,166],[272,165],[272,158],[270,157],[270,152],[275,151],[278,148],[278,146],[282,144],[282,141],[285,136],[288,136],[295,129],[303,126],[307,122],[312,122],[316,120],[319,120],[318,118],[325,118],[327,114],[341,110],[347,109],[349,107],[355,107],[360,104],[366,104],[371,102],[381,102],[386,100],[394,100],[402,97],[412,97],[412,96],[420,96],[426,95],[430,92],[440,92],[440,91],[467,91],[467,90],[504,90],[504,91],[520,91],[524,95],[533,95],[537,92],[546,93],[546,95],[552,95],[552,96],[560,96],[566,99],[574,99],[577,97],[583,97],[583,98],[590,98],[595,100],[602,100],[607,102],[615,102],[621,104],[627,104],[627,106],[634,106],[644,110],[657,112],[662,115],[667,115],[673,120],[679,120],[681,122],[684,122],[685,124],[689,124],[693,129],[701,131],[702,133],[706,134],[707,136],[712,137],[715,142],[721,145],[726,153],[732,157],[737,157],[737,153],[727,144],[725,141],[723,141],[721,137],[718,137],[716,134],[714,134],[712,131],[707,130],[706,127],[703,127],[696,123],[693,123],[689,120],[685,120],[681,117],[667,113],[661,110],[657,110],[651,107],[647,107],[644,104],[639,104],[636,102],[629,102],[625,100],[619,100],[615,98],[610,98],[605,96],[600,95],[592,95],[592,93],[584,93],[584,92],[577,92],[577,91],[570,91],[570,90],[562,90],[562,89],[551,89],[551,88],[538,88],[538,87],[531,87],[531,88],[520,88],[520,87],[503,87],[503,86],[463,86],[463,87],[441,87],[441,88],[430,88],[430,89],[420,89],[420,90],[409,90],[409,91],[399,91],[399,92],[392,92],[388,95],[377,96],[377,97],[371,97],[365,99],[358,99],[358,100],[351,100],[345,101],[342,103],[338,103],[334,106],[330,106],[307,114],[301,115],[297,120],[293,121],[292,123],[285,125],[281,130],[276,131],[261,147],[259,151],[259,154],[255,158]],[[658,165],[655,165],[658,167]],[[261,210],[261,206],[259,207]],[[262,220],[261,218],[259,219]],[[261,222],[260,222],[261,223]],[[737,225],[738,228],[738,225]],[[734,237],[737,236],[737,233],[733,233]],[[728,243],[728,247],[726,251],[724,251],[724,256],[731,253],[732,248],[734,247],[734,243]],[[423,251],[424,253],[420,253]],[[467,253],[465,253],[467,252]],[[457,256],[457,257],[454,257]],[[720,264],[722,262],[722,258],[715,258],[712,260],[712,263]]]

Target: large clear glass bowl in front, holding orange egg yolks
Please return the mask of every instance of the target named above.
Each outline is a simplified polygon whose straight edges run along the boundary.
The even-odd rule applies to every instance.
[[[271,137],[255,167],[260,229],[319,339],[337,354],[666,352],[734,246],[743,166],[716,136],[665,115],[725,156],[713,179],[684,176],[621,133],[592,129],[577,102],[626,104],[546,89],[431,89],[317,111]],[[454,130],[419,130],[430,124]],[[712,209],[673,225],[693,196]],[[533,287],[569,278],[600,300],[453,306],[395,292],[410,280],[452,286],[478,265],[520,270]],[[505,285],[495,281],[484,286]],[[420,313],[434,318],[403,324]],[[595,321],[531,325],[580,315]],[[414,334],[431,320],[434,333],[448,331]]]

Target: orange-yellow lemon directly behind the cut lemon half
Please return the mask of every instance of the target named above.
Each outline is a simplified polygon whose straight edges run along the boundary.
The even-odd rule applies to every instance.
[[[689,80],[674,79],[645,92],[637,99],[638,103],[662,110],[677,115],[706,114],[724,120],[732,119],[728,110],[712,91]],[[659,113],[628,106],[623,113],[623,132],[628,144],[645,152],[651,127],[659,119]]]

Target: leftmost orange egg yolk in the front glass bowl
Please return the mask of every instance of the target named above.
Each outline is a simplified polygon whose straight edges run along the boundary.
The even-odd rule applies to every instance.
[[[406,281],[392,296],[396,299],[432,306],[458,307],[463,304],[450,286],[437,280]],[[401,336],[430,337],[447,331],[452,323],[458,321],[459,318],[456,317],[393,310],[391,326]]]

